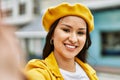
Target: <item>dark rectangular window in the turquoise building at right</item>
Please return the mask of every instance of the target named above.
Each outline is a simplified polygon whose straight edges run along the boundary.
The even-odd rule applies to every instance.
[[[102,32],[102,55],[120,56],[120,31]]]

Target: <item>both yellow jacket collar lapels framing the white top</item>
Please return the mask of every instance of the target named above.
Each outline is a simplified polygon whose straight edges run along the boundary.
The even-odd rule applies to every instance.
[[[75,58],[75,61],[84,69],[90,80],[98,80],[96,72],[91,66],[89,66],[87,63],[82,62],[77,57]],[[45,63],[56,77],[63,78],[59,71],[59,67],[53,52],[51,52],[50,55],[45,59]]]

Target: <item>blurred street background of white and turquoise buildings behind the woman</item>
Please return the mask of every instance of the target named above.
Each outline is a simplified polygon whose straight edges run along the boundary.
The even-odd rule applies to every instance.
[[[48,7],[61,2],[79,2],[90,8],[95,30],[91,33],[88,63],[100,80],[120,80],[120,0],[0,0],[0,17],[17,28],[27,61],[42,58],[47,34],[42,27],[42,15]]]

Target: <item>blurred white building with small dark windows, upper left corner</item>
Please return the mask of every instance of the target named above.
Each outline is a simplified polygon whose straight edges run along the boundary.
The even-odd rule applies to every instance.
[[[24,25],[40,13],[39,0],[0,0],[0,10],[6,23]]]

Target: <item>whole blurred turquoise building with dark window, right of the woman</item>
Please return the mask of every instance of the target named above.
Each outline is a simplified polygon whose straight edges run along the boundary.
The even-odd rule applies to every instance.
[[[97,70],[120,74],[120,1],[100,1],[92,6],[95,30],[88,62]]]

